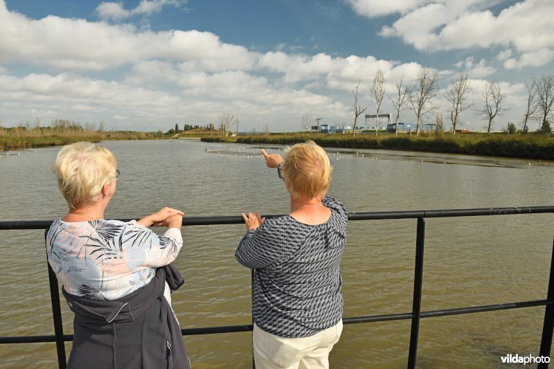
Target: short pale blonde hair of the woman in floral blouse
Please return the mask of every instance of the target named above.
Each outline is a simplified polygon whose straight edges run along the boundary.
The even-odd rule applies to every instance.
[[[105,147],[88,142],[65,145],[57,153],[52,171],[71,210],[94,202],[102,186],[116,179],[116,157]]]

